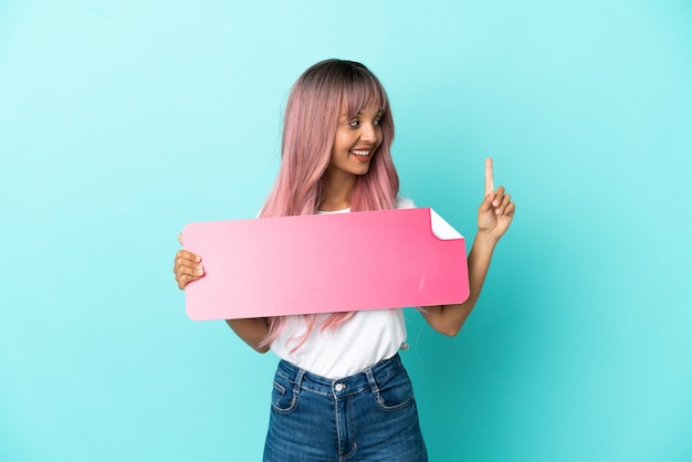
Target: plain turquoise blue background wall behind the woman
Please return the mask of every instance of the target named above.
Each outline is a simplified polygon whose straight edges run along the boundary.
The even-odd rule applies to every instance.
[[[461,334],[407,313],[433,461],[692,460],[692,4],[0,1],[0,460],[260,460],[276,359],[195,323],[189,221],[254,217],[290,86],[367,64],[402,195],[517,216]]]

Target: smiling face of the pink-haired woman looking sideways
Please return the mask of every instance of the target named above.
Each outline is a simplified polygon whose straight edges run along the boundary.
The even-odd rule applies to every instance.
[[[368,172],[370,159],[382,144],[381,113],[375,103],[369,103],[350,118],[345,113],[339,115],[329,160],[332,175]]]

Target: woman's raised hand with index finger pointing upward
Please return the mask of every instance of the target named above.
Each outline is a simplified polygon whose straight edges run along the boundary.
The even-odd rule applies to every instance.
[[[485,198],[479,207],[479,233],[500,240],[512,224],[515,206],[504,186],[493,187],[493,159],[485,159]]]

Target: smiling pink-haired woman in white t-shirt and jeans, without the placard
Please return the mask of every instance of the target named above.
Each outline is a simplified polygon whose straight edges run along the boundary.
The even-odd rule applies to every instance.
[[[313,65],[289,97],[282,164],[260,217],[413,207],[398,197],[392,139],[387,94],[369,70],[342,60]],[[421,308],[432,328],[457,335],[479,298],[493,250],[514,211],[504,188],[494,190],[493,165],[486,159],[485,197],[468,256],[470,296],[459,305]],[[201,256],[179,251],[174,272],[178,287],[185,288],[203,277]],[[398,355],[406,340],[401,309],[228,324],[255,350],[272,349],[281,358],[265,461],[428,459],[412,387]]]

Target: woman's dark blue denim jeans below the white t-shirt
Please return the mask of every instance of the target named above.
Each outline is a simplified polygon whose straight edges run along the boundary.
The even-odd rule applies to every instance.
[[[427,460],[399,355],[339,380],[279,363],[264,462]]]

